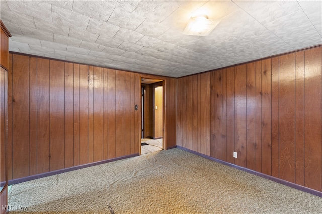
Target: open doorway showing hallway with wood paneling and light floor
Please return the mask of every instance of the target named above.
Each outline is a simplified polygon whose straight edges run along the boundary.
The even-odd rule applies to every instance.
[[[163,81],[141,78],[141,154],[163,149]]]

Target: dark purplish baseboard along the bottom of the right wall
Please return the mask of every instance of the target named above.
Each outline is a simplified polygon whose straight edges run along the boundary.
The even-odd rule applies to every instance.
[[[257,172],[257,171],[253,171],[251,169],[247,169],[247,168],[244,168],[244,167],[241,167],[241,166],[237,166],[235,164],[228,163],[228,162],[225,162],[225,161],[222,161],[222,160],[213,158],[213,157],[209,157],[208,155],[201,154],[201,153],[196,152],[196,151],[192,151],[192,150],[187,149],[187,148],[184,148],[182,146],[177,146],[177,148],[182,149],[182,150],[187,151],[187,152],[190,152],[190,153],[193,153],[193,154],[196,154],[198,156],[204,157],[206,159],[209,159],[209,160],[212,160],[212,161],[215,161],[215,162],[218,162],[218,163],[221,163],[221,164],[224,164],[224,165],[227,165],[227,166],[230,166],[230,167],[239,169],[241,171],[245,171],[245,172],[248,172],[250,174],[254,174],[254,175],[257,175],[259,177],[263,177],[265,179],[274,181],[276,183],[280,183],[280,184],[283,184],[285,186],[289,186],[289,187],[292,187],[294,189],[298,189],[300,191],[307,192],[307,193],[310,193],[312,195],[316,195],[318,197],[322,197],[322,192],[320,192],[320,191],[317,191],[317,190],[314,190],[314,189],[310,189],[310,188],[307,188],[305,186],[301,186],[301,185],[298,185],[298,184],[295,184],[295,183],[291,183],[291,182],[288,182],[286,180],[282,180],[280,178],[273,177],[273,176],[270,176],[270,175],[267,175],[267,174],[263,174],[263,173],[260,173],[260,172]]]

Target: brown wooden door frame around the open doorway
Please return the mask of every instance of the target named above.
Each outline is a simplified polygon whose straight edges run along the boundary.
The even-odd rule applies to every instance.
[[[142,82],[141,82],[141,79],[144,78],[144,79],[158,79],[158,80],[162,80],[162,149],[163,150],[167,150],[167,121],[166,121],[166,109],[167,109],[167,102],[166,102],[166,97],[167,97],[167,90],[166,90],[166,86],[167,86],[167,79],[166,77],[162,77],[162,76],[156,76],[156,75],[150,75],[150,74],[140,74],[140,88],[141,88],[141,85],[142,85]],[[142,108],[143,106],[142,105],[142,95],[141,95],[141,92],[140,92],[140,118],[142,120]],[[141,133],[141,130],[142,130],[142,121],[140,122],[140,133]],[[141,136],[141,135],[140,135]],[[141,137],[140,137],[140,140],[139,140],[139,153],[141,155]]]

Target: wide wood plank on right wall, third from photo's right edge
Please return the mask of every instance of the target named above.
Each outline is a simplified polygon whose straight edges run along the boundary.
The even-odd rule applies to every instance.
[[[295,182],[294,53],[280,56],[279,70],[279,177],[289,182]]]

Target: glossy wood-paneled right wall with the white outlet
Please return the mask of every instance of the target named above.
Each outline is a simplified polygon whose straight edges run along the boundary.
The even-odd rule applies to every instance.
[[[321,66],[317,47],[179,78],[177,144],[322,191]]]

